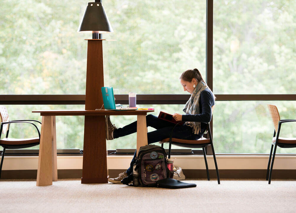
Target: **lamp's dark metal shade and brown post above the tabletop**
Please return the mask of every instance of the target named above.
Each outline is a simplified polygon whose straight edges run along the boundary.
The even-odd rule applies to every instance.
[[[85,109],[95,110],[102,107],[101,87],[104,87],[102,33],[113,32],[102,6],[102,0],[89,2],[78,28],[78,32],[92,33],[87,44],[86,98]]]

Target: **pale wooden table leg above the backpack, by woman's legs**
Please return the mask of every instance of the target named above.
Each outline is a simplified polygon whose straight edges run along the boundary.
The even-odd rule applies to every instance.
[[[141,146],[148,145],[146,116],[137,116],[137,156]]]

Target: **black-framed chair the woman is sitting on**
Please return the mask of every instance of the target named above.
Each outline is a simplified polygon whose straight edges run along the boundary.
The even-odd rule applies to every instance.
[[[188,148],[202,148],[202,152],[203,152],[204,158],[205,158],[205,167],[206,167],[206,170],[207,170],[207,180],[210,180],[210,174],[209,174],[209,169],[208,169],[208,166],[207,166],[207,157],[206,157],[206,153],[205,153],[205,147],[208,146],[208,145],[211,145],[212,151],[213,151],[213,158],[214,158],[214,161],[215,161],[217,180],[218,180],[218,184],[220,184],[220,177],[219,177],[217,160],[216,160],[216,156],[215,156],[215,150],[214,150],[214,146],[213,146],[213,138],[212,138],[212,134],[211,134],[211,130],[210,130],[210,124],[206,123],[207,124],[207,129],[206,129],[206,131],[204,133],[204,134],[208,134],[209,138],[201,137],[198,140],[183,140],[183,139],[173,138],[172,135],[173,135],[174,128],[177,125],[179,125],[181,123],[184,123],[184,122],[187,122],[187,121],[181,121],[181,122],[179,122],[178,124],[176,124],[173,127],[173,129],[172,129],[172,131],[170,133],[170,138],[165,138],[162,141],[160,141],[161,147],[163,147],[163,144],[165,142],[169,142],[168,158],[170,158],[171,145],[172,144],[177,145],[177,146],[181,146],[181,147],[188,147]]]

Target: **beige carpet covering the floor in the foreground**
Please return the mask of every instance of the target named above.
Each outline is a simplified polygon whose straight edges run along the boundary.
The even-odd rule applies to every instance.
[[[1,212],[296,212],[296,181],[185,180],[196,188],[161,189],[59,180],[1,180]]]

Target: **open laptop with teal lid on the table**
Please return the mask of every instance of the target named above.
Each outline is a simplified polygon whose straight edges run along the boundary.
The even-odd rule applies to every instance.
[[[102,87],[102,96],[105,110],[137,110],[137,107],[120,107],[115,106],[115,98],[112,87]]]

